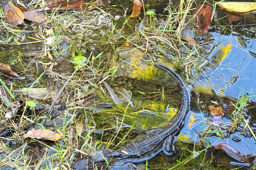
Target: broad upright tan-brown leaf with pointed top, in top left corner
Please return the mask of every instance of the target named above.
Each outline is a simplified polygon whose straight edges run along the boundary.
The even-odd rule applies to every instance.
[[[15,7],[10,1],[4,7],[4,16],[6,21],[13,26],[23,24],[23,13],[19,8]]]

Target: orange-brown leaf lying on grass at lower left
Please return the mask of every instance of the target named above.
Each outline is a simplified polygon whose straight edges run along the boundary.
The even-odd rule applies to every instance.
[[[28,131],[25,136],[22,138],[25,139],[27,137],[36,138],[36,139],[47,139],[47,140],[59,140],[62,139],[63,136],[59,133],[56,133],[52,130],[48,129],[36,129]]]

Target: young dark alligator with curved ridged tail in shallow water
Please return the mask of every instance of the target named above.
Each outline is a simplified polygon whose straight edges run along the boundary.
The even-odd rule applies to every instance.
[[[128,143],[117,151],[108,149],[89,152],[88,156],[82,158],[72,165],[74,170],[93,170],[106,168],[107,166],[125,166],[133,168],[131,162],[141,162],[152,158],[160,151],[171,155],[174,152],[174,136],[178,135],[185,124],[185,118],[190,107],[190,92],[179,75],[174,73],[165,65],[155,64],[156,67],[168,73],[176,80],[182,90],[182,103],[175,118],[165,127],[150,128],[145,134]],[[96,168],[95,168],[96,169]]]

